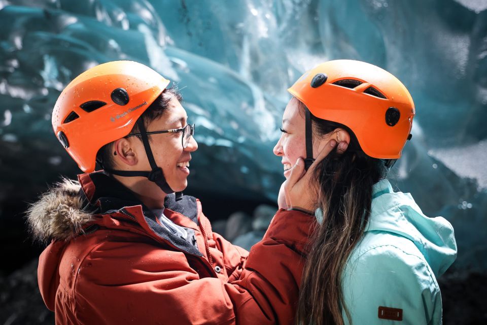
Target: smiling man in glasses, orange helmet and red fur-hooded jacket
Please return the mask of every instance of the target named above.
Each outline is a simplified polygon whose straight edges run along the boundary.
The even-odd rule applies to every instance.
[[[38,270],[47,307],[58,324],[293,323],[315,218],[279,210],[250,254],[213,233],[180,193],[198,145],[168,84],[115,61],[60,94],[53,129],[85,174],[28,211],[33,235],[50,242]]]

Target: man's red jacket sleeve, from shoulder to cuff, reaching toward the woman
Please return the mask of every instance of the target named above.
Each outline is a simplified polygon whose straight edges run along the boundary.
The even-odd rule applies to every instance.
[[[278,211],[240,276],[227,283],[200,278],[182,252],[100,243],[75,283],[76,317],[80,323],[291,324],[314,219]]]

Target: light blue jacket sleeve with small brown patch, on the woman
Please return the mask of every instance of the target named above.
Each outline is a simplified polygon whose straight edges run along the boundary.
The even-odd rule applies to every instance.
[[[352,324],[381,324],[388,310],[402,310],[402,324],[441,324],[441,294],[424,259],[391,245],[367,250],[346,266],[343,297]],[[393,315],[397,316],[397,314]],[[391,319],[389,317],[389,319]],[[343,320],[348,324],[346,314]]]

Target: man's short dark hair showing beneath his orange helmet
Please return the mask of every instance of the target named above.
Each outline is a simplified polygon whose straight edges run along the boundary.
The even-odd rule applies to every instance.
[[[170,100],[173,98],[180,102],[183,100],[181,94],[178,92],[178,89],[175,86],[164,89],[154,100],[154,102],[152,102],[145,112],[142,113],[142,115],[137,119],[137,122],[142,119],[144,126],[147,129],[147,126],[152,121],[159,118],[164,113],[169,106]],[[134,126],[132,127],[132,131],[130,131],[128,135],[141,132],[137,122],[135,122]],[[142,140],[141,136],[137,136],[137,138]],[[151,141],[151,137],[149,137],[149,141]],[[115,169],[115,161],[113,159],[114,143],[115,141],[110,142],[98,150],[98,153],[96,154],[96,162],[98,165],[100,165],[101,169]]]

